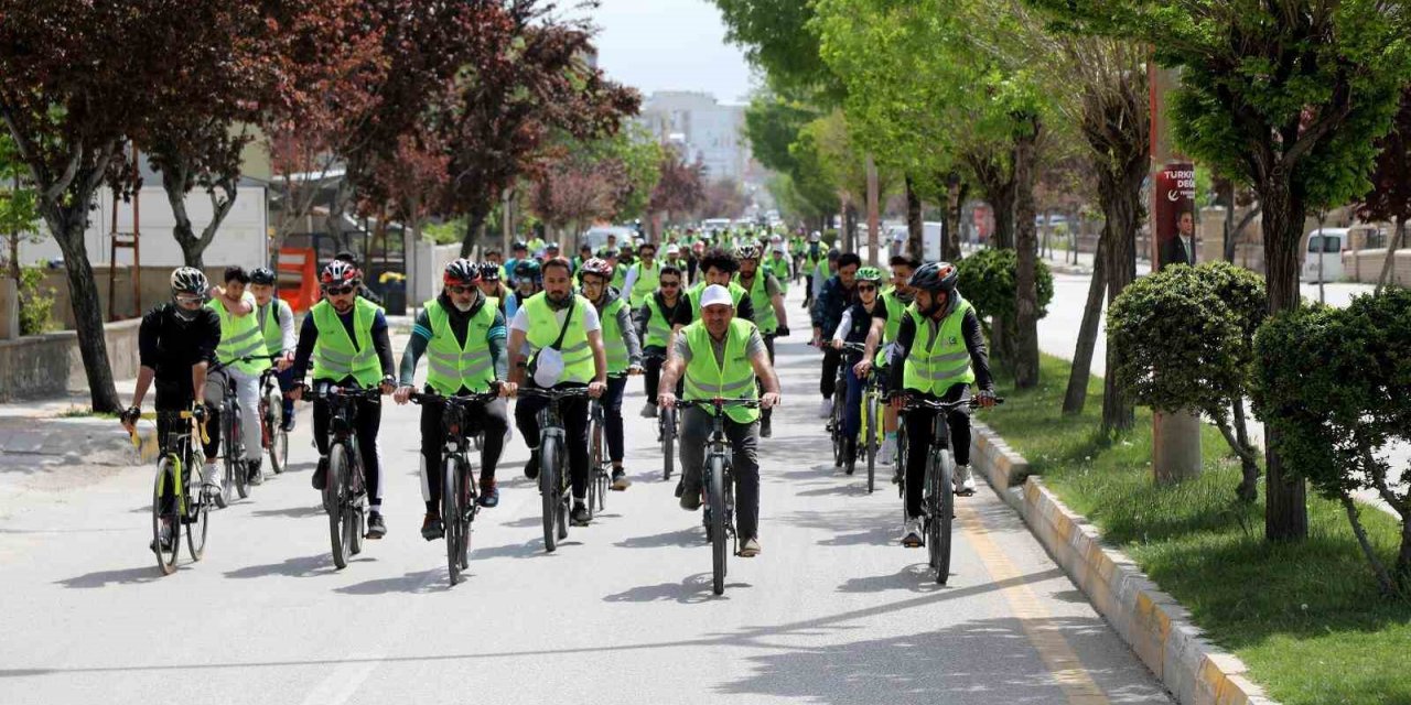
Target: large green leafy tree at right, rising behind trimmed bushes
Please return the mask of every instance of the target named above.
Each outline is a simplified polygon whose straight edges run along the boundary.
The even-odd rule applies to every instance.
[[[1411,73],[1404,8],[1381,0],[1065,4],[1068,25],[1149,42],[1161,65],[1182,69],[1171,99],[1177,145],[1259,193],[1270,312],[1298,307],[1304,217],[1367,190],[1374,140],[1390,130]],[[1285,471],[1277,446],[1271,434],[1264,534],[1300,540],[1308,536],[1304,482],[1298,468]]]

